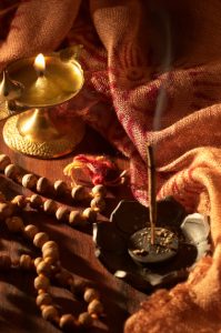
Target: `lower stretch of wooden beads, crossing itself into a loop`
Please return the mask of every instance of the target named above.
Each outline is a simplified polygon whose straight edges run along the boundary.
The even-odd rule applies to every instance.
[[[13,199],[13,204],[21,202],[21,198]],[[4,209],[11,206],[11,202],[0,205],[0,214]],[[9,255],[0,255],[0,271],[10,268],[20,268],[24,271],[36,270],[37,276],[33,286],[37,291],[36,304],[41,311],[44,320],[58,325],[61,330],[74,330],[77,327],[90,327],[94,319],[102,316],[103,305],[100,301],[100,293],[86,282],[74,280],[72,274],[62,268],[60,263],[59,246],[57,242],[50,240],[48,233],[39,231],[33,224],[24,225],[20,216],[13,215],[13,210],[8,210],[4,222],[10,232],[17,232],[31,241],[33,245],[41,250],[39,258],[32,259],[29,254],[21,254],[19,260],[12,262]],[[51,279],[61,286],[69,289],[73,294],[82,295],[82,300],[88,303],[88,311],[76,317],[71,313],[60,314],[58,305],[51,295]]]

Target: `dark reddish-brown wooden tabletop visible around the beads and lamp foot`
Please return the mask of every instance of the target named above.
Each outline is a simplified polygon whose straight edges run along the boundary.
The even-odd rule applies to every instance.
[[[3,122],[0,124],[2,133]],[[0,137],[0,152],[11,158],[12,163],[19,164],[27,172],[32,172],[41,176],[47,176],[51,182],[58,179],[69,181],[63,175],[63,168],[72,161],[78,153],[93,153],[112,155],[120,168],[127,165],[127,161],[111,148],[104,139],[88,128],[83,141],[69,155],[56,160],[33,159],[16,151],[10,150]],[[3,174],[0,174],[0,191],[11,198],[16,194],[30,194],[21,185],[16,184]],[[125,186],[115,189],[111,195],[112,200],[108,203],[107,211],[102,219],[109,218],[110,212],[120,199],[131,198],[129,189]],[[134,290],[123,281],[115,279],[100,263],[94,255],[94,244],[92,241],[91,228],[76,230],[68,224],[57,223],[56,219],[44,213],[26,213],[27,223],[37,223],[41,231],[47,231],[51,240],[58,242],[63,266],[70,270],[73,276],[82,280],[91,280],[96,283],[101,293],[104,304],[106,316],[89,332],[123,332],[125,319],[133,313],[145,294]],[[9,253],[17,259],[21,253],[33,254],[33,248],[26,240],[14,236],[0,225],[0,251]],[[33,255],[34,256],[34,255]],[[41,317],[40,311],[36,305],[36,291],[33,289],[34,274],[21,270],[11,269],[0,273],[0,332],[60,332],[50,322]],[[69,291],[54,287],[58,303],[68,312],[78,313],[78,302],[72,299]]]

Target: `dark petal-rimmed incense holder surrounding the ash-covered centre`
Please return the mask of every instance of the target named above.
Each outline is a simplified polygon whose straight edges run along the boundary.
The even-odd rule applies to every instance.
[[[145,293],[184,281],[189,270],[210,252],[207,216],[189,215],[172,198],[159,201],[157,209],[157,226],[170,230],[179,240],[175,254],[161,262],[137,261],[129,253],[133,235],[150,226],[149,209],[139,202],[121,201],[111,222],[93,225],[97,258],[114,276]]]

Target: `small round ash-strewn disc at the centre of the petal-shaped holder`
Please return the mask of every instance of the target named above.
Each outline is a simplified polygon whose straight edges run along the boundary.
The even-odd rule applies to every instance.
[[[138,263],[158,263],[173,258],[179,249],[175,233],[164,228],[155,228],[154,244],[151,244],[151,229],[144,228],[129,239],[128,252]]]

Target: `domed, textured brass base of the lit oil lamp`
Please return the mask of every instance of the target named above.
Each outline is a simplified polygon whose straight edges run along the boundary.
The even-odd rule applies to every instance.
[[[42,117],[41,110],[29,110],[8,119],[3,127],[6,144],[12,150],[39,159],[56,159],[73,151],[84,135],[84,123],[78,119],[64,129],[59,129],[59,125],[51,127],[48,115],[44,115]],[[43,124],[42,131],[39,129],[38,132],[36,118]]]

